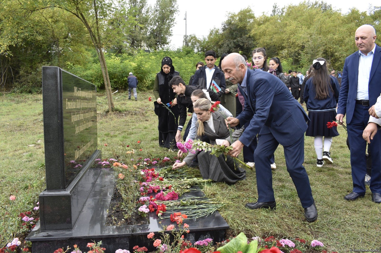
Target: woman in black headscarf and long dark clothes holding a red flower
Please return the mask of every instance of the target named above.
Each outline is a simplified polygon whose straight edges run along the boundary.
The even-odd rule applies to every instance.
[[[154,82],[154,96],[156,98],[155,114],[158,116],[159,145],[173,149],[176,147],[175,136],[178,128],[179,109],[176,104],[175,93],[169,87],[169,81],[179,72],[174,71],[172,59],[164,57],[162,69],[156,74]],[[167,105],[171,102],[171,105]],[[168,110],[170,109],[170,110]]]

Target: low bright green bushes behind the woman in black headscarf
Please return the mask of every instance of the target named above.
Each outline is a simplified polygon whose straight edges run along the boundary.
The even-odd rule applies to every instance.
[[[195,54],[191,50],[158,51],[147,53],[144,51],[130,54],[106,54],[106,63],[112,89],[126,90],[128,88],[127,77],[130,72],[138,78],[138,90],[152,89],[156,73],[160,71],[161,60],[165,56],[172,59],[176,71],[188,84],[189,78],[195,72],[195,64],[203,60],[202,54]],[[67,62],[68,71],[92,82],[98,88],[104,87],[103,77],[99,63],[93,62],[85,66],[75,65]]]

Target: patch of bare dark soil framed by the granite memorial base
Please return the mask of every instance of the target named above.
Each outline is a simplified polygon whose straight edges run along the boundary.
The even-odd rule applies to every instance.
[[[107,213],[106,225],[107,226],[121,226],[121,225],[141,225],[149,224],[148,215],[142,217],[139,213],[134,212],[128,220],[125,220],[125,210],[121,209],[120,203],[123,199],[118,189],[115,187],[112,192],[109,212]]]

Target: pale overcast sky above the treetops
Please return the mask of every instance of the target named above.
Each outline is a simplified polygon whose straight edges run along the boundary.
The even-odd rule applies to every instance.
[[[151,4],[152,7],[155,5],[155,2],[156,0],[148,0],[148,3]],[[342,13],[348,13],[351,8],[367,11],[370,4],[373,6],[376,5],[375,0],[325,0],[324,2],[332,5],[334,9],[340,9]],[[170,47],[176,49],[182,46],[182,40],[185,35],[185,12],[187,12],[187,35],[195,34],[199,36],[199,38],[202,38],[202,36],[209,34],[211,28],[220,28],[229,12],[237,13],[241,9],[250,7],[254,11],[255,16],[260,16],[262,13],[269,15],[274,3],[277,3],[277,5],[282,8],[285,5],[296,5],[299,1],[178,0],[179,12],[176,14],[176,24],[172,28],[173,36],[171,37]]]

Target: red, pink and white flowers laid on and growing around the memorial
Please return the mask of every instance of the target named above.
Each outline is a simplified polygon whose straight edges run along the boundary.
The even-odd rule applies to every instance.
[[[128,152],[128,151],[127,151]],[[132,153],[127,153],[131,155]],[[152,252],[214,252],[218,250],[221,253],[233,252],[227,249],[232,245],[236,252],[283,252],[283,253],[299,253],[299,252],[327,252],[325,246],[316,240],[307,242],[299,238],[282,238],[276,239],[272,236],[259,238],[253,237],[250,240],[242,234],[239,236],[227,239],[224,242],[215,242],[211,238],[201,238],[196,242],[191,242],[186,239],[186,235],[192,231],[192,226],[189,226],[187,220],[198,219],[205,217],[223,207],[224,203],[218,203],[213,199],[207,199],[200,196],[188,196],[187,198],[179,198],[182,194],[193,191],[192,186],[202,185],[210,182],[203,180],[197,174],[197,170],[187,167],[173,170],[171,164],[174,163],[174,158],[142,158],[129,157],[128,159],[104,159],[96,161],[99,166],[114,167],[116,188],[115,192],[120,194],[120,209],[125,212],[118,219],[112,220],[110,225],[126,225],[126,221],[135,221],[142,224],[142,220],[148,221],[148,213],[157,216],[157,219],[166,219],[172,224],[162,226],[162,230],[155,233],[149,233],[148,239],[152,239],[150,245],[131,245],[131,249],[118,249],[116,253],[130,252],[147,252],[148,248],[155,248]],[[16,197],[11,196],[10,201],[14,201]],[[35,210],[27,211],[20,214],[23,229],[29,231],[38,221],[38,205]],[[112,207],[110,207],[110,210]],[[112,213],[112,212],[109,212]],[[140,217],[141,219],[137,219]],[[122,222],[122,220],[124,220]],[[185,237],[184,237],[185,235]],[[18,238],[13,239],[9,244],[0,249],[3,252],[21,252],[30,251],[26,247],[25,242],[21,242]],[[89,242],[86,251],[76,245],[69,248],[57,249],[55,252],[67,253],[94,253],[94,252],[111,252],[107,248],[101,246],[102,242]],[[86,245],[86,244],[85,244]],[[249,246],[251,245],[251,246]],[[255,246],[256,245],[256,246]],[[84,247],[84,246],[82,246]],[[253,248],[256,251],[252,251]],[[276,248],[280,251],[275,251]],[[266,251],[269,250],[269,251]],[[114,252],[114,250],[113,250]],[[130,253],[131,253],[130,252]]]

